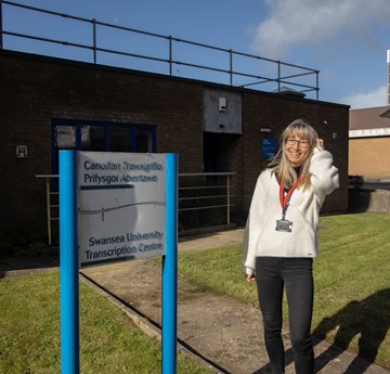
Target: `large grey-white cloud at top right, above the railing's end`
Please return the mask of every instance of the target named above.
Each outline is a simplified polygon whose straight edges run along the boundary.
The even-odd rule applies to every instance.
[[[360,38],[373,21],[388,20],[388,0],[265,0],[270,16],[256,28],[251,49],[281,59],[298,46],[332,40],[341,31]],[[369,39],[369,38],[368,38]]]

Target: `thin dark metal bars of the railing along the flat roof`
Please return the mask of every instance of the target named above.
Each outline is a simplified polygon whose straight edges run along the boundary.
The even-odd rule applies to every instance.
[[[29,10],[31,12],[40,12],[40,13],[46,13],[46,14],[63,17],[63,18],[75,20],[80,23],[91,24],[92,33],[93,33],[92,44],[89,46],[89,44],[77,43],[77,42],[72,42],[72,41],[67,41],[67,40],[57,40],[57,39],[52,39],[52,38],[38,37],[38,36],[32,36],[32,35],[27,35],[27,34],[22,34],[22,33],[15,33],[12,30],[5,30],[5,29],[3,29],[2,22],[1,22],[1,20],[2,20],[2,7],[1,5],[2,4],[9,5],[9,7],[18,7],[18,8]],[[117,51],[117,50],[113,50],[113,49],[102,48],[102,47],[98,46],[98,42],[96,42],[98,26],[123,30],[123,31],[128,31],[128,33],[134,33],[138,35],[150,36],[150,37],[157,38],[157,39],[168,40],[168,43],[169,43],[168,57],[161,59],[156,55],[152,56],[152,55],[136,54],[136,53],[131,53],[131,52],[126,52],[126,51]],[[193,67],[193,68],[197,68],[197,69],[203,69],[203,70],[210,70],[210,72],[226,74],[230,79],[230,86],[234,86],[233,85],[234,77],[250,78],[250,79],[255,80],[255,81],[247,82],[244,85],[238,85],[237,87],[240,87],[240,88],[253,87],[253,86],[268,83],[268,82],[275,82],[275,83],[277,83],[276,91],[281,92],[281,85],[285,83],[285,85],[290,85],[290,86],[297,87],[300,90],[300,92],[315,91],[316,100],[318,100],[318,92],[320,92],[318,74],[320,74],[320,70],[317,70],[317,69],[282,62],[280,60],[272,60],[272,59],[261,57],[261,56],[249,54],[249,53],[237,52],[237,51],[233,51],[232,49],[225,49],[225,48],[208,46],[205,43],[195,42],[195,41],[191,41],[191,40],[179,39],[179,38],[174,38],[172,36],[165,36],[165,35],[160,35],[160,34],[144,31],[144,30],[134,29],[134,28],[130,28],[130,27],[108,24],[105,22],[96,21],[94,18],[89,20],[89,18],[83,18],[83,17],[79,17],[79,16],[75,16],[75,15],[48,11],[48,10],[36,8],[36,7],[17,4],[17,3],[14,3],[11,1],[0,0],[0,49],[4,49],[3,36],[32,39],[32,40],[38,40],[38,41],[43,41],[43,42],[49,42],[49,43],[56,43],[56,44],[62,44],[62,46],[67,46],[67,47],[75,47],[75,48],[91,50],[93,52],[93,63],[94,64],[98,63],[98,52],[110,53],[110,54],[123,55],[123,56],[128,56],[128,57],[135,57],[135,59],[143,59],[143,60],[151,60],[151,61],[155,61],[155,62],[166,63],[166,64],[168,64],[170,76],[173,75],[173,73],[172,73],[173,65],[177,65],[177,66],[181,65],[181,66]],[[229,56],[229,68],[221,68],[221,67],[209,66],[209,65],[194,64],[194,63],[191,63],[187,61],[173,60],[173,57],[172,57],[173,56],[173,42],[178,43],[178,44],[184,43],[187,46],[195,46],[195,47],[199,47],[203,49],[208,49],[208,50],[212,50],[212,51],[226,53]],[[276,69],[277,69],[277,76],[276,77],[264,77],[259,74],[233,69],[234,56],[243,56],[246,59],[250,59],[252,61],[260,61],[260,62],[275,64]],[[282,67],[297,69],[298,74],[283,75]],[[307,76],[314,76],[315,85],[307,85],[301,81],[297,82],[297,81],[292,80],[295,78],[301,78],[301,77],[307,77]]]

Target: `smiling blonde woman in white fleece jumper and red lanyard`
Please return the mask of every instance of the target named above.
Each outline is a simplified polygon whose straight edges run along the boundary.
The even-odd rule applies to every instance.
[[[244,267],[256,281],[264,340],[273,374],[285,372],[282,331],[284,287],[297,374],[312,374],[312,263],[317,252],[320,209],[339,186],[333,157],[315,130],[297,119],[281,138],[281,150],[260,173],[247,222]]]

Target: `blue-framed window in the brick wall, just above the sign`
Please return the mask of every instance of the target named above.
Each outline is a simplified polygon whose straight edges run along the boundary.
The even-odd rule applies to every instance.
[[[58,173],[58,151],[156,152],[156,128],[151,125],[52,120],[52,172]]]

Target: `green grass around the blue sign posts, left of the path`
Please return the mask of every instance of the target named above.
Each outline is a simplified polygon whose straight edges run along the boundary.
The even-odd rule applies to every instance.
[[[0,373],[61,372],[58,272],[0,281]],[[161,348],[110,301],[80,283],[80,372],[161,372]],[[178,354],[178,373],[210,373]]]

